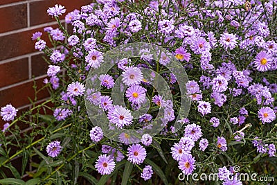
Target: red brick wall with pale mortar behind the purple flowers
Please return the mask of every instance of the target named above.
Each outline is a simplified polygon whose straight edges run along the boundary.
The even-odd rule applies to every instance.
[[[61,4],[67,13],[80,10],[91,1],[0,0],[0,107],[11,103],[17,109],[28,108],[28,97],[34,97],[33,79],[41,87],[46,78],[47,64],[30,37],[36,31],[44,33],[46,26],[57,27],[55,19],[46,13],[48,7]],[[47,40],[46,37],[44,33],[42,39]],[[47,97],[47,91],[38,94],[39,100]],[[2,127],[3,121],[0,121]]]

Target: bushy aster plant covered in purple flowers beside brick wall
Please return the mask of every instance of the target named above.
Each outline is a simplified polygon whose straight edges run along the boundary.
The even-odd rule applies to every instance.
[[[1,107],[0,184],[277,178],[276,12],[275,0],[96,0],[72,12],[48,8],[59,28],[30,39],[48,63],[35,97],[45,89],[51,97],[21,114]],[[131,44],[138,47],[129,51]],[[135,51],[140,55],[128,57]],[[183,71],[174,73],[173,64]],[[191,178],[203,173],[218,180]]]

